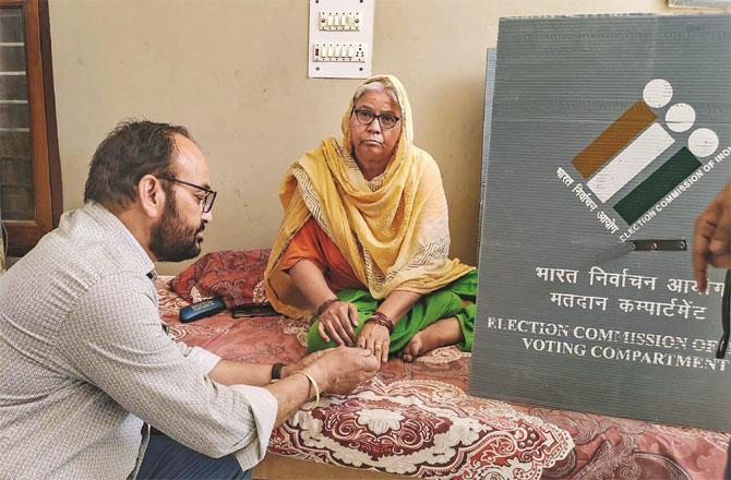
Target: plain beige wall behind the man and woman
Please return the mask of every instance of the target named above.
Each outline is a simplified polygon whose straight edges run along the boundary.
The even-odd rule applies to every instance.
[[[678,13],[667,0],[379,0],[373,72],[400,77],[416,142],[436,159],[452,254],[476,262],[486,49],[503,16]],[[309,80],[308,0],[51,0],[65,209],[122,118],[189,127],[219,191],[204,252],[269,245],[278,182],[321,137],[339,134],[357,80]],[[182,265],[160,265],[175,273]]]

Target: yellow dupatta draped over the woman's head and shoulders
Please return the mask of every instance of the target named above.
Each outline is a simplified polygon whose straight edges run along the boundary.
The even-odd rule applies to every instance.
[[[350,155],[350,101],[343,140],[322,142],[287,170],[279,190],[285,217],[265,274],[266,295],[277,311],[311,311],[279,268],[291,238],[313,217],[335,242],[373,298],[393,290],[429,293],[472,267],[450,260],[450,225],[442,177],[433,158],[412,143],[411,107],[391,75],[366,81],[393,85],[402,108],[402,135],[386,170],[368,181]]]

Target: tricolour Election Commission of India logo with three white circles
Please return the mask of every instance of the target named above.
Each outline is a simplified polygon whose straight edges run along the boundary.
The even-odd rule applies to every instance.
[[[717,132],[696,125],[692,105],[671,104],[672,99],[673,86],[669,81],[648,82],[643,98],[572,160],[588,190],[604,205],[597,217],[612,233],[619,227],[609,207],[630,226],[644,224],[731,156],[731,147],[719,148]],[[657,165],[655,160],[669,151],[670,158]],[[649,168],[654,171],[645,180],[628,193],[622,191]],[[558,177],[566,187],[573,183],[573,178],[561,168]],[[591,212],[599,207],[580,183],[573,192]],[[631,228],[623,237],[632,233]]]

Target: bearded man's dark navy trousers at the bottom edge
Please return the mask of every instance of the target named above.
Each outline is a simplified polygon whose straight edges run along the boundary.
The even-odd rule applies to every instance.
[[[188,448],[167,435],[151,435],[137,479],[251,480],[233,455],[212,458]]]

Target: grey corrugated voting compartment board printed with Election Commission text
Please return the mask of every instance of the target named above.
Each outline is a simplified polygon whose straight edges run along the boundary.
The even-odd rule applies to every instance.
[[[628,251],[731,179],[731,16],[503,19],[494,73],[470,393],[731,430],[723,273]]]

